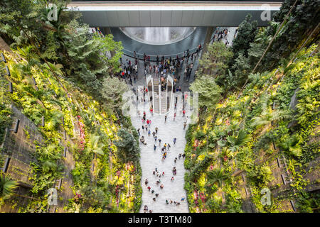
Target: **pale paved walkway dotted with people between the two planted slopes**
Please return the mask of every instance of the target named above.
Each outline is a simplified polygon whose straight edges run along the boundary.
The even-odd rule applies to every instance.
[[[144,212],[144,205],[148,206],[155,213],[179,213],[179,212],[188,212],[188,204],[186,201],[186,192],[184,190],[184,175],[186,170],[184,169],[184,159],[181,157],[178,158],[179,154],[184,153],[184,148],[186,145],[185,133],[188,128],[188,122],[190,117],[187,117],[190,114],[190,111],[186,111],[186,117],[182,115],[182,94],[181,92],[176,93],[178,95],[178,104],[176,110],[171,108],[167,114],[166,123],[164,122],[164,115],[161,116],[151,116],[148,109],[149,103],[141,104],[139,107],[140,116],[132,116],[132,124],[135,128],[140,128],[140,138],[144,135],[146,140],[146,145],[140,143],[141,148],[141,157],[140,164],[142,165],[142,207],[141,212]],[[186,108],[187,109],[187,108]],[[142,130],[142,115],[143,111],[146,111],[146,119],[151,119],[151,125],[148,126],[150,129],[151,135],[148,135],[147,131]],[[176,112],[176,118],[174,121],[174,112]],[[187,122],[186,129],[183,129],[184,122]],[[145,125],[146,123],[144,123]],[[159,146],[159,141],[155,143],[152,132],[155,131],[155,128],[158,127],[157,138],[161,139],[161,146]],[[174,145],[174,138],[176,138],[176,145]],[[164,161],[162,161],[161,148],[164,143],[170,143],[171,148],[168,151],[168,155]],[[154,151],[154,144],[156,145],[156,150]],[[174,159],[177,157],[176,163]],[[171,177],[173,177],[172,169],[176,167],[176,176],[174,176],[174,181],[171,182]],[[164,172],[164,177],[156,177],[153,175],[153,171],[157,168],[159,173]],[[149,184],[145,185],[144,181],[148,179]],[[164,188],[160,189],[160,184],[157,185],[156,181],[160,179],[161,183],[164,184]],[[151,187],[151,190],[154,190],[154,193],[151,193],[151,190],[147,189]],[[155,194],[158,193],[159,196],[156,197]],[[156,201],[153,201],[153,198],[156,197]],[[181,201],[181,198],[185,198],[184,201]],[[168,201],[172,200],[172,204],[166,204],[166,199]],[[174,201],[180,202],[180,205],[174,204]]]

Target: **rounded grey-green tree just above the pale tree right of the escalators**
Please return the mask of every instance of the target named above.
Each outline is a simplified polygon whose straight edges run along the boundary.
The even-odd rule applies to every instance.
[[[199,65],[202,69],[206,69],[208,75],[216,77],[219,74],[225,74],[231,57],[233,52],[222,41],[214,42],[208,45],[208,51],[199,60]]]

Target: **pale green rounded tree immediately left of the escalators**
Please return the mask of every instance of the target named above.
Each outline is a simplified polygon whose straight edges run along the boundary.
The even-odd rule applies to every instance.
[[[127,90],[127,84],[117,77],[105,77],[102,81],[102,97],[112,107],[119,108],[122,105],[122,94]]]

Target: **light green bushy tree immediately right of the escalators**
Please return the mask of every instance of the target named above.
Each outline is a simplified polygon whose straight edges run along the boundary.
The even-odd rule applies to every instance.
[[[198,92],[199,106],[206,106],[208,109],[213,109],[221,99],[222,89],[215,83],[215,80],[210,76],[198,77],[191,85],[192,92]]]

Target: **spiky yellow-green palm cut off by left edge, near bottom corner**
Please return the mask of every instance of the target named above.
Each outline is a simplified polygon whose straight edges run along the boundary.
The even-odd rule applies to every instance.
[[[4,200],[10,199],[14,195],[14,190],[18,187],[18,182],[10,179],[9,175],[0,172],[0,206]]]

